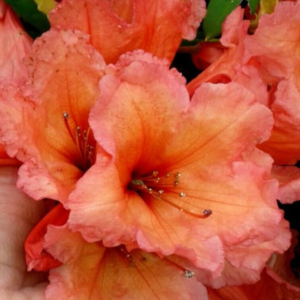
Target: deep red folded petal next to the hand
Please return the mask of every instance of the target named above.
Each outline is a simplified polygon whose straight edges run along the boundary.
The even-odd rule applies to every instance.
[[[55,260],[42,246],[44,235],[47,232],[47,225],[63,225],[68,217],[69,211],[64,209],[59,203],[52,208],[30,231],[24,242],[26,252],[26,263],[28,271],[35,269],[37,271],[46,271],[61,263]]]

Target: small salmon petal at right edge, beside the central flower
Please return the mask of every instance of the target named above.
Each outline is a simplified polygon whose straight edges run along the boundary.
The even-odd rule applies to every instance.
[[[298,167],[274,165],[271,176],[279,181],[277,199],[281,203],[300,200],[300,169]]]

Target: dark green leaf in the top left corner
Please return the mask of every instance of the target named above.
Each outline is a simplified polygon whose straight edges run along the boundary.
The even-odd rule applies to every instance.
[[[30,24],[38,35],[47,31],[50,24],[47,16],[37,9],[34,0],[4,0],[14,12],[27,24]]]

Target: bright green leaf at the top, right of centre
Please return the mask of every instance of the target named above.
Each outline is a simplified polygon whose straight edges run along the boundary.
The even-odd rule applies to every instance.
[[[210,0],[206,16],[203,19],[203,31],[206,38],[221,34],[221,24],[225,17],[240,3],[241,0]]]

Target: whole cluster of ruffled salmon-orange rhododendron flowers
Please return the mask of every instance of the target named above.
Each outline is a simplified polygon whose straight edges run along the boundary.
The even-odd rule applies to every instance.
[[[244,287],[255,298],[263,278],[277,288],[265,263],[291,233],[276,199],[300,193],[298,168],[282,166],[300,158],[300,2],[279,3],[253,35],[237,7],[188,84],[170,63],[204,0],[62,0],[34,41],[0,4],[12,44],[0,56],[0,178],[10,172],[14,190],[20,165],[22,192],[10,192],[38,200],[27,269],[49,271],[32,298],[227,299]]]

